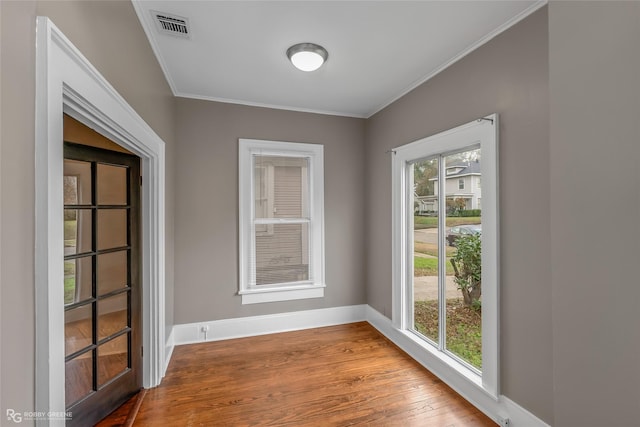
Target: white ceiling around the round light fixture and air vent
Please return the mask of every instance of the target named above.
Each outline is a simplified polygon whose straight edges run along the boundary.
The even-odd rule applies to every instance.
[[[546,1],[133,0],[176,96],[369,117]],[[186,18],[190,37],[153,11]],[[312,42],[329,58],[293,67]]]

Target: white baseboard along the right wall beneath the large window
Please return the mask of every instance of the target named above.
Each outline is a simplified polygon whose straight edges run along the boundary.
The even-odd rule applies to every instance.
[[[413,340],[394,328],[388,317],[368,305],[367,321],[405,353],[468,400],[473,406],[484,412],[499,426],[549,427],[544,421],[506,396],[499,396],[498,399],[495,399],[478,384],[470,382],[462,374],[450,369],[440,359],[430,356],[422,347],[415,344]],[[506,420],[508,420],[508,423],[505,423]]]

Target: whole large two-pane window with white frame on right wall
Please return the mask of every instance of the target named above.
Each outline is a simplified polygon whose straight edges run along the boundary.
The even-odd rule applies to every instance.
[[[394,326],[422,347],[421,363],[493,397],[498,128],[492,114],[392,151]]]

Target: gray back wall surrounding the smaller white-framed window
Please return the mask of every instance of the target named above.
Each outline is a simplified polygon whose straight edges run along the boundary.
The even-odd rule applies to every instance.
[[[364,304],[364,120],[178,99],[176,324]],[[324,144],[325,297],[242,305],[238,138]]]

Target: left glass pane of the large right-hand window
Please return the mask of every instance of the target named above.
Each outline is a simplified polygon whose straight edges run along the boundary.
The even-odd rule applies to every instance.
[[[438,343],[438,158],[412,165],[413,179],[413,328]]]

